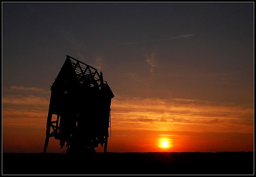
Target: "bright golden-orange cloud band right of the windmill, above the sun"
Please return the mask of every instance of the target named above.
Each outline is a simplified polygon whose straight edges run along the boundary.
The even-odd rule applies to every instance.
[[[112,100],[111,120],[118,130],[253,132],[253,107],[198,99],[119,97]]]

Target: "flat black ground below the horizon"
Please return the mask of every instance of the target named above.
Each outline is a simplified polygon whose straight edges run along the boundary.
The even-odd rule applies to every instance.
[[[254,174],[254,153],[3,153],[2,174]]]

